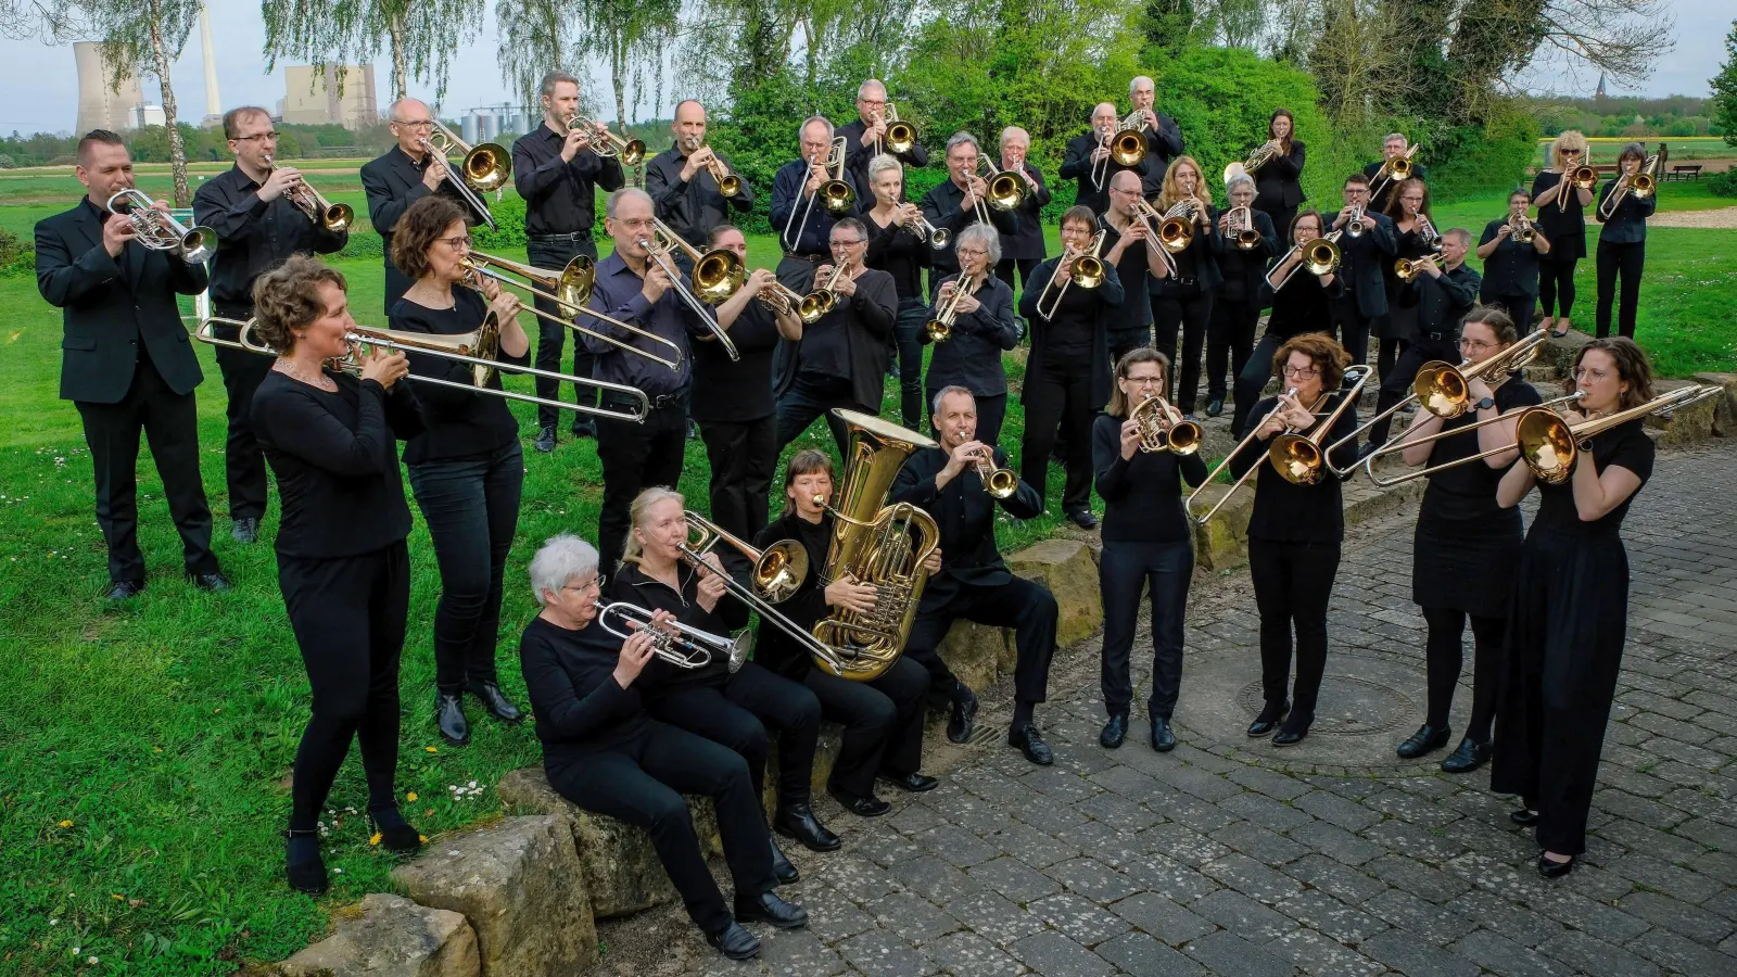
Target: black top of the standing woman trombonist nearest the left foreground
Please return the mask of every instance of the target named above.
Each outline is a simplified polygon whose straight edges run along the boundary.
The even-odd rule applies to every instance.
[[[254,391],[248,422],[278,476],[283,525],[278,555],[311,560],[360,556],[410,535],[410,506],[394,438],[422,433],[408,382],[327,372],[337,393],[278,370]]]

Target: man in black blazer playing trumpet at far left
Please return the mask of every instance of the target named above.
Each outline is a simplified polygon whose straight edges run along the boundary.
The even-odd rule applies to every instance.
[[[203,374],[175,308],[175,296],[205,290],[205,266],[144,247],[130,219],[108,212],[113,195],[134,188],[132,156],[120,136],[87,132],[73,174],[85,184],[83,200],[36,224],[36,290],[61,309],[66,330],[61,400],[78,409],[90,447],[97,527],[108,546],[108,600],[144,589],[141,429],[151,438],[188,579],[203,589],[228,589],[212,553],[212,511],[200,482],[193,388]]]

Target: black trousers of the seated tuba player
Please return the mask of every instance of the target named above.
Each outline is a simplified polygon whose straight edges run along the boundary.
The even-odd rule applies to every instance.
[[[820,701],[820,714],[844,725],[844,742],[832,763],[834,789],[853,798],[874,794],[874,777],[922,768],[922,713],[929,673],[905,655],[872,681],[851,681],[818,668],[802,685]]]

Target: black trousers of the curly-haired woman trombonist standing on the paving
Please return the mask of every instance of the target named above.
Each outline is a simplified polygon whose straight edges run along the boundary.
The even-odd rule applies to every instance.
[[[1249,539],[1249,577],[1261,612],[1261,688],[1268,706],[1285,701],[1296,628],[1291,716],[1303,723],[1315,720],[1320,676],[1327,669],[1327,600],[1337,572],[1337,542]]]

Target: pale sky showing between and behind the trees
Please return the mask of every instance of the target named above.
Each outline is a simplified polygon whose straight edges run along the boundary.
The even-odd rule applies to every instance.
[[[1676,49],[1654,64],[1652,78],[1640,85],[1641,94],[1668,96],[1706,96],[1707,78],[1711,78],[1725,56],[1725,35],[1730,31],[1734,5],[1730,0],[1668,0],[1676,16]],[[283,71],[267,75],[259,50],[264,43],[266,28],[259,19],[259,7],[248,0],[228,0],[210,5],[212,40],[217,49],[217,87],[222,106],[231,108],[243,103],[274,108],[283,97]],[[5,75],[0,78],[0,132],[69,132],[78,115],[78,76],[73,70],[71,45],[50,47],[36,40],[0,38],[0,64]],[[389,59],[375,63],[375,85],[379,87],[380,108],[391,101]],[[1556,78],[1565,78],[1563,61],[1546,61],[1532,71],[1536,78],[1544,78],[1539,87],[1565,90],[1569,85]],[[195,28],[193,37],[182,52],[181,61],[172,70],[175,94],[179,97],[181,118],[198,123],[205,115],[205,66],[200,57],[200,37]],[[603,76],[591,68],[594,83],[591,90],[603,94],[596,85]],[[1596,71],[1581,66],[1572,75],[1574,89],[1591,94],[1598,82]],[[146,82],[146,101],[156,101],[155,82]],[[431,96],[431,90],[412,87],[412,94]],[[1631,94],[1610,89],[1610,94]],[[445,111],[448,116],[457,110],[497,104],[507,101],[509,92],[500,80],[495,64],[495,17],[490,12],[483,17],[483,33],[469,43],[459,47],[453,59],[452,82],[446,89]],[[608,104],[608,97],[599,99]],[[646,104],[644,115],[660,115],[655,106]]]

